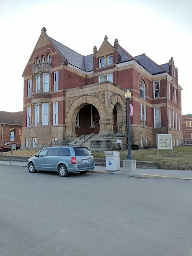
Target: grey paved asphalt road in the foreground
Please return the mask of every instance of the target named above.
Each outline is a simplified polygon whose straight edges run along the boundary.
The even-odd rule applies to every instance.
[[[0,166],[0,256],[192,256],[192,181]]]

